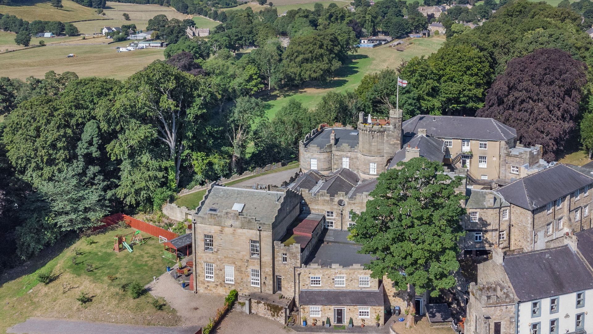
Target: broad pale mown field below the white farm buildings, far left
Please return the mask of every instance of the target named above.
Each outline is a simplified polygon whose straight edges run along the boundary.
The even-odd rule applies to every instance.
[[[164,59],[162,49],[142,49],[116,52],[129,41],[111,43],[104,38],[75,40],[0,54],[0,77],[25,79],[33,75],[43,77],[47,71],[73,71],[79,77],[125,79],[157,59]],[[76,58],[66,58],[75,53]]]

